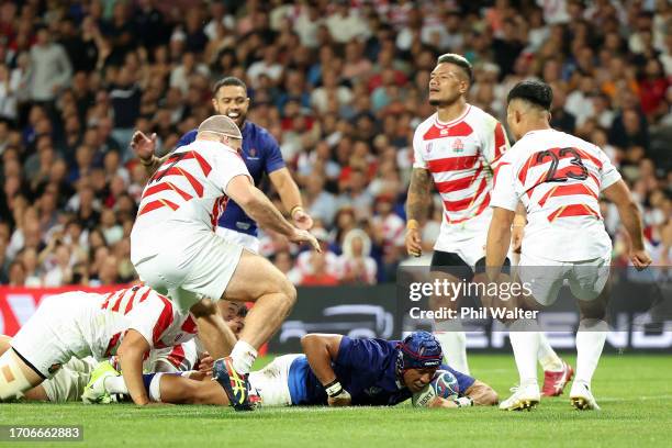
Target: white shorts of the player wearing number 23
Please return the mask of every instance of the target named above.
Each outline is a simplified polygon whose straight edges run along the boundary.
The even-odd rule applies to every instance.
[[[551,305],[558,299],[565,281],[576,299],[591,301],[604,290],[611,262],[611,254],[590,260],[557,261],[523,253],[518,275],[524,285],[531,290],[535,300],[544,306]]]

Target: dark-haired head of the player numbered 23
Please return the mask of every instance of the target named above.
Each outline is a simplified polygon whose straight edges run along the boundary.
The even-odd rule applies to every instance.
[[[506,98],[506,121],[516,139],[538,124],[548,125],[553,90],[542,81],[526,80],[514,86]]]

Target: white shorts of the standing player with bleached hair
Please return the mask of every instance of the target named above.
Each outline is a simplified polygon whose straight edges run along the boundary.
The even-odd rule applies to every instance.
[[[434,249],[457,254],[467,265],[475,266],[478,260],[485,257],[485,243],[491,220],[492,212],[488,209],[463,223],[446,224],[443,222]]]

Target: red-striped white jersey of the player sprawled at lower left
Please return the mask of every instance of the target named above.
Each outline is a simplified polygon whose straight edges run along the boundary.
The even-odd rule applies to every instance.
[[[112,318],[101,321],[101,331],[105,333],[107,340],[103,357],[116,354],[130,329],[143,335],[152,349],[176,346],[197,334],[195,321],[191,314],[180,313],[168,298],[149,287],[136,285],[109,293],[101,310],[113,313]],[[122,325],[119,321],[123,321]],[[108,323],[110,325],[105,325]]]

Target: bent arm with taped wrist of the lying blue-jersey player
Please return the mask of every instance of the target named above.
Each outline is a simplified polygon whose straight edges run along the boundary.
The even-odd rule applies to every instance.
[[[301,347],[311,370],[324,385],[331,406],[347,406],[351,402],[348,391],[343,389],[332,367],[338,358],[341,335],[310,334],[301,338]]]

